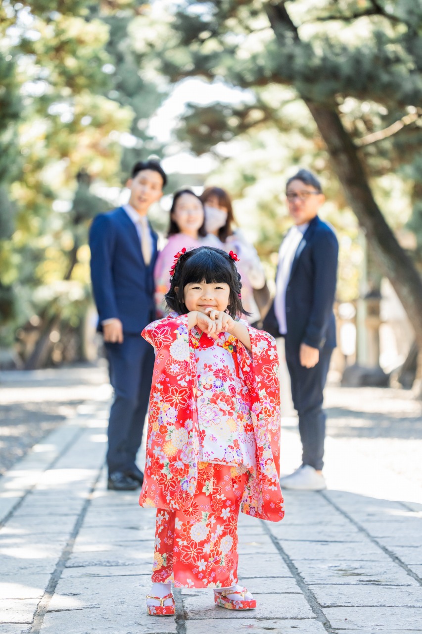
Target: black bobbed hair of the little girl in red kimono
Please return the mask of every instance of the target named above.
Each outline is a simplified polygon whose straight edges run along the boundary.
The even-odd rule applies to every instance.
[[[183,291],[186,284],[226,283],[230,288],[227,310],[234,319],[241,314],[248,315],[242,306],[240,298],[240,274],[234,260],[222,249],[214,247],[198,247],[182,254],[177,261],[174,275],[170,278],[170,290],[165,295],[165,301],[170,310],[179,315],[188,313],[184,304]],[[177,290],[176,290],[177,288]]]

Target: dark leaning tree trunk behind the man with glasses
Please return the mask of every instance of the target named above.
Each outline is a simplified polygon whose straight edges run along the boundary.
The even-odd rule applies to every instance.
[[[284,2],[267,6],[267,15],[281,46],[288,43],[286,34],[300,42],[298,31],[287,13]],[[291,42],[291,39],[290,39]],[[290,44],[291,45],[291,44]],[[390,280],[414,328],[419,349],[416,383],[422,380],[422,280],[411,259],[400,247],[376,204],[358,150],[345,130],[335,103],[316,103],[298,91],[314,117],[324,139],[333,171],[343,186],[348,204],[366,232],[374,256]]]

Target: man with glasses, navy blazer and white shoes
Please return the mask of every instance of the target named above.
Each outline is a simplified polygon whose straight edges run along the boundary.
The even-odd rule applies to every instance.
[[[323,456],[326,415],[323,390],[336,347],[333,303],[338,241],[331,226],[318,217],[325,197],[319,180],[306,169],[286,183],[293,219],[279,249],[276,296],[264,330],[285,338],[291,396],[299,418],[302,465],[280,479],[286,489],[326,488]]]

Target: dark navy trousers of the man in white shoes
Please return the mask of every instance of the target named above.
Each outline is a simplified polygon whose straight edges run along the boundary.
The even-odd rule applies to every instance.
[[[325,421],[323,390],[327,380],[329,361],[333,348],[324,347],[314,368],[300,365],[299,354],[286,352],[290,374],[291,397],[299,417],[299,433],[302,441],[302,464],[323,469]]]

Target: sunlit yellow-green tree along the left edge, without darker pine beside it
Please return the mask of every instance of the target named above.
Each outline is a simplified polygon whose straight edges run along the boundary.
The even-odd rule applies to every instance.
[[[42,347],[61,318],[78,306],[83,311],[75,295],[85,303],[89,297],[88,261],[80,246],[86,243],[93,200],[75,213],[77,175],[86,171],[90,179],[115,184],[121,146],[113,133],[128,131],[132,121],[131,108],[102,94],[109,81],[103,70],[110,61],[108,27],[89,19],[87,6],[82,0],[67,0],[60,10],[49,0],[2,4],[8,66],[2,62],[0,72],[8,101],[0,116],[8,127],[1,141],[17,157],[4,152],[0,160],[8,194],[0,200],[0,225],[7,230],[0,256],[6,261],[0,280],[8,306],[0,332],[6,344],[16,327],[35,316]],[[15,214],[6,228],[7,200]],[[79,266],[84,276],[77,279]],[[27,361],[34,367],[45,360],[36,348]]]

